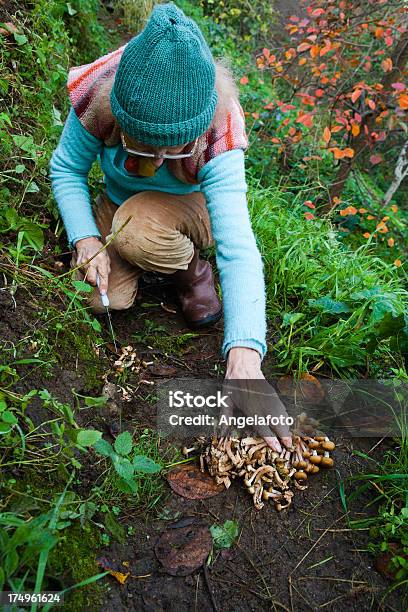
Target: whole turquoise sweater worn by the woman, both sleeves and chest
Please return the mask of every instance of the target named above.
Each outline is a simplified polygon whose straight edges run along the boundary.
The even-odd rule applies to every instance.
[[[98,159],[106,191],[118,206],[139,191],[155,190],[185,194],[202,191],[216,247],[223,307],[223,357],[235,346],[266,352],[265,284],[262,259],[249,219],[244,152],[235,149],[211,159],[198,174],[200,183],[179,181],[164,162],[152,177],[128,174],[123,166],[126,154],[119,144],[106,147],[87,132],[73,109],[51,159],[51,181],[68,240],[71,245],[87,236],[100,236],[89,190],[88,173]]]

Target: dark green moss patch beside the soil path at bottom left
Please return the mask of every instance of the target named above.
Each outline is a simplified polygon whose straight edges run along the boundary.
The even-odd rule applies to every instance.
[[[63,588],[73,586],[101,573],[95,558],[95,542],[98,532],[86,525],[74,525],[63,532],[58,544],[50,552],[47,576],[63,582]],[[62,609],[66,612],[97,610],[103,600],[106,588],[100,582],[73,589],[66,595]]]

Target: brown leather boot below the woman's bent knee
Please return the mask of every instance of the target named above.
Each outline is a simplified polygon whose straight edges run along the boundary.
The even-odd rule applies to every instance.
[[[220,320],[222,307],[215,291],[211,266],[208,261],[200,259],[198,249],[194,250],[187,270],[178,270],[172,277],[189,327],[207,327]]]

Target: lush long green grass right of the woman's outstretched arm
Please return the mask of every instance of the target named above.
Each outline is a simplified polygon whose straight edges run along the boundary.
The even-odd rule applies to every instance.
[[[302,202],[256,184],[249,195],[276,367],[393,376],[407,342],[404,272],[342,244],[330,220],[306,220]]]

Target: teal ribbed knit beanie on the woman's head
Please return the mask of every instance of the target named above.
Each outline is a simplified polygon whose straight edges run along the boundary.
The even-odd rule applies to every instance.
[[[125,47],[111,93],[122,130],[139,142],[177,146],[209,127],[215,64],[197,24],[172,2],[158,4]]]

